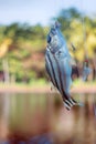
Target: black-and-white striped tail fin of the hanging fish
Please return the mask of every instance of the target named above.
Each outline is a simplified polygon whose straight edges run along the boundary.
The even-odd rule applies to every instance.
[[[76,102],[74,99],[70,97],[68,100],[65,100],[64,102],[64,106],[70,111],[71,107],[73,107],[74,105],[78,105],[78,106],[84,106],[83,103],[81,102]]]

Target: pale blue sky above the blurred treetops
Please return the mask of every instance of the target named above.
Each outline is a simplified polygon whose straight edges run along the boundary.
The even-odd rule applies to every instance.
[[[0,24],[21,22],[46,25],[61,9],[77,8],[96,14],[96,0],[0,0]]]

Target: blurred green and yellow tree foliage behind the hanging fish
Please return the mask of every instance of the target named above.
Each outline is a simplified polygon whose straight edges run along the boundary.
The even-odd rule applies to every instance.
[[[71,43],[77,49],[72,54],[82,62],[86,54],[93,59],[96,53],[96,18],[84,17],[84,31],[83,17],[77,9],[71,8],[61,10],[56,18],[62,24],[62,32],[70,50],[72,49]],[[2,59],[7,56],[9,73],[11,76],[14,75],[18,82],[31,83],[35,79],[45,78],[44,52],[47,31],[49,27],[41,24],[0,25],[0,52],[4,48],[4,54],[0,58],[0,71],[3,71]]]

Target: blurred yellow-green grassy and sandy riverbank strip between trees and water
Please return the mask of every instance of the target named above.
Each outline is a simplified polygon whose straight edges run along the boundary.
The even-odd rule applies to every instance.
[[[0,83],[0,93],[50,93],[51,83]],[[53,90],[52,92],[55,92]],[[96,82],[74,82],[72,93],[96,93]]]

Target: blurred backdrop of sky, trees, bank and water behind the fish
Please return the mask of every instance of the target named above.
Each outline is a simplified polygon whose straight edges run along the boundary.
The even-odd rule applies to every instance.
[[[38,144],[96,143],[96,1],[0,1],[0,142]],[[46,37],[58,20],[82,76],[72,95],[83,107],[64,109],[45,71]],[[73,52],[73,43],[76,51]]]

